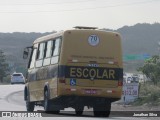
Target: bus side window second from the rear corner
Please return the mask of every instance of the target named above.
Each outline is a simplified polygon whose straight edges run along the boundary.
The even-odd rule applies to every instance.
[[[51,61],[51,52],[52,52],[52,44],[53,41],[48,41],[46,42],[45,45],[45,54],[44,54],[44,61],[43,61],[43,66],[49,65]]]

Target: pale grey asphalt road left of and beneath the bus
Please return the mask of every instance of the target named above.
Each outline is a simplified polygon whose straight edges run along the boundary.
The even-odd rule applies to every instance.
[[[23,98],[23,89],[24,85],[0,85],[0,111],[26,111],[25,108],[25,101]],[[66,108],[65,110],[62,110],[60,114],[53,114],[53,113],[45,113],[43,110],[43,107],[36,106],[35,111],[38,113],[41,113],[44,117],[44,119],[47,117],[47,119],[70,119],[74,118],[74,120],[79,120],[79,119],[106,119],[106,118],[96,118],[93,116],[92,109],[87,109],[85,108],[85,111],[81,117],[77,117],[75,115],[74,109],[72,108]],[[39,119],[39,118],[38,118]],[[116,116],[115,114],[112,114],[109,118],[109,120],[128,120],[128,117],[119,117]],[[138,119],[138,120],[143,120],[143,118],[129,118],[130,120],[132,119]],[[144,118],[146,119],[146,118]]]

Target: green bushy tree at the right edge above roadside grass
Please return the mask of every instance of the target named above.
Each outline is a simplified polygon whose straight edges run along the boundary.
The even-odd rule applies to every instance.
[[[139,68],[147,78],[153,81],[154,85],[160,81],[160,57],[155,55],[145,61],[144,65]]]

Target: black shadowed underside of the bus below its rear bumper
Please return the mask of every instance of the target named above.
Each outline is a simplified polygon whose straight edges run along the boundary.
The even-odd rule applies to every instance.
[[[95,105],[104,105],[107,106],[111,102],[118,101],[120,98],[107,98],[107,97],[94,97],[94,96],[59,96],[52,99],[54,104],[61,106],[61,108],[72,107],[76,108],[77,106],[88,106],[93,107]]]

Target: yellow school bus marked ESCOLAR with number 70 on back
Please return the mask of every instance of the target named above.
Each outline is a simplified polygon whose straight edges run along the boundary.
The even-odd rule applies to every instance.
[[[109,116],[111,103],[122,95],[123,62],[120,34],[94,27],[75,27],[36,39],[30,53],[24,89],[27,111],[42,105],[46,112],[67,107],[82,115]]]

